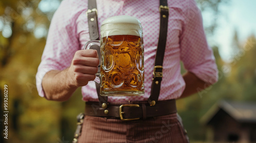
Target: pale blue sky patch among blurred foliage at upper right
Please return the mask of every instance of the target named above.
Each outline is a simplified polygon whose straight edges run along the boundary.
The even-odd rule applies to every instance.
[[[218,18],[218,27],[215,34],[208,42],[219,47],[223,60],[228,61],[233,54],[232,39],[234,31],[238,31],[241,43],[245,43],[249,35],[256,35],[256,1],[255,0],[230,0],[228,4],[220,7],[221,15]],[[210,16],[203,14],[204,24]]]

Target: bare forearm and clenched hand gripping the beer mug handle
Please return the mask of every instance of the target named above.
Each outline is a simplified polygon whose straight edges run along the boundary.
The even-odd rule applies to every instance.
[[[95,79],[99,65],[96,50],[79,50],[75,53],[69,68],[51,70],[42,79],[46,98],[67,101],[79,87]]]

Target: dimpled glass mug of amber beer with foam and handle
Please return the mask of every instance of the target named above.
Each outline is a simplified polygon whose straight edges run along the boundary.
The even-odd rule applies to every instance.
[[[100,27],[101,39],[84,46],[100,47],[101,96],[141,96],[144,94],[144,48],[140,21],[132,16],[105,19]],[[97,76],[97,74],[96,74]]]

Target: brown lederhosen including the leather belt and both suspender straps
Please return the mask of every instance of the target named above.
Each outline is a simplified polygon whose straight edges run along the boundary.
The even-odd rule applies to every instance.
[[[85,115],[78,115],[73,142],[189,142],[176,113],[175,100],[158,101],[169,14],[166,0],[160,0],[159,10],[158,58],[155,59],[150,98],[148,101],[108,103],[108,97],[99,95],[99,84],[96,83],[99,102],[86,102]],[[95,0],[88,1],[87,14],[88,19],[95,19],[88,20],[90,39],[99,39]]]

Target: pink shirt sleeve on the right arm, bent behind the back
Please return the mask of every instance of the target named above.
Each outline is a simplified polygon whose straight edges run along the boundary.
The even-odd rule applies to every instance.
[[[185,12],[180,36],[181,61],[185,69],[206,83],[218,81],[218,69],[203,29],[202,15],[196,3]]]

